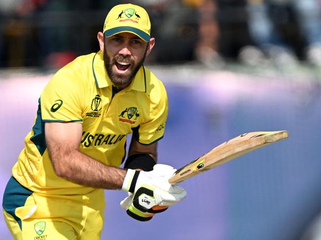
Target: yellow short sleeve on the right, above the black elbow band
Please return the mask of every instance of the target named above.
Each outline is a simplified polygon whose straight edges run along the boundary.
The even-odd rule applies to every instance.
[[[147,121],[133,129],[135,139],[143,144],[150,145],[160,140],[164,135],[168,113],[168,100],[164,86],[160,83],[160,89],[150,95],[150,111]]]

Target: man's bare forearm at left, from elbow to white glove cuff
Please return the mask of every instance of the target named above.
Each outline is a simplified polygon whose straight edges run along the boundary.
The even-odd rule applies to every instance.
[[[70,150],[63,156],[57,156],[54,152],[51,151],[50,157],[58,176],[83,186],[121,189],[125,170],[107,166],[78,150]]]

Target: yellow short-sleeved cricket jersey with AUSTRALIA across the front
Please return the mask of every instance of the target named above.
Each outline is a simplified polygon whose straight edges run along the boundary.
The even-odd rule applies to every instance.
[[[20,184],[38,193],[85,194],[93,190],[58,177],[45,144],[45,122],[82,124],[80,152],[110,166],[125,158],[126,135],[141,144],[163,137],[168,103],[161,81],[142,66],[131,84],[118,92],[103,53],[80,56],[60,69],[39,100],[32,131],[12,169]]]

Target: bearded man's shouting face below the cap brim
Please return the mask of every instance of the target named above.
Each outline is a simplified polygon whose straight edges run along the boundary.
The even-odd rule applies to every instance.
[[[135,34],[120,33],[105,38],[104,63],[111,81],[125,88],[144,63],[148,43]]]

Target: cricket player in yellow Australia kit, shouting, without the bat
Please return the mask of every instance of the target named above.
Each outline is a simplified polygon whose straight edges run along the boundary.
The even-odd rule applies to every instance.
[[[168,105],[143,65],[155,44],[150,30],[142,7],[113,7],[97,35],[100,51],[78,57],[43,89],[3,195],[15,240],[100,239],[104,189],[128,192],[121,206],[140,221],[185,198],[168,183],[175,170],[156,164]]]

